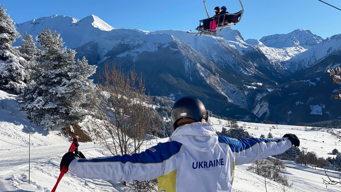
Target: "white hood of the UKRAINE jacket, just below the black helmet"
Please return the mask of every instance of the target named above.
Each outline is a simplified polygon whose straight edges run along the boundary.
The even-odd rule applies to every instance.
[[[178,127],[169,139],[201,152],[212,151],[218,143],[216,129],[211,124],[201,122]]]

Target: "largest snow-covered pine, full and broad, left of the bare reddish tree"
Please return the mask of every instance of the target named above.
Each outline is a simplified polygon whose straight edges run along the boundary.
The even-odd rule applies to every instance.
[[[67,126],[84,119],[87,111],[81,106],[95,88],[89,80],[97,66],[83,58],[75,63],[75,51],[63,47],[56,31],[43,30],[38,36],[35,82],[19,96],[21,107],[37,125],[50,130],[56,125]]]

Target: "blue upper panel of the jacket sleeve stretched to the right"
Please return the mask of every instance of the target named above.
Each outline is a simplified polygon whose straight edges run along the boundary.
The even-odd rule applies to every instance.
[[[243,150],[250,149],[252,146],[260,143],[260,142],[282,142],[284,139],[265,139],[265,138],[249,138],[249,139],[231,139],[229,137],[219,136],[218,141],[221,143],[225,143],[230,146],[232,152],[240,152]]]

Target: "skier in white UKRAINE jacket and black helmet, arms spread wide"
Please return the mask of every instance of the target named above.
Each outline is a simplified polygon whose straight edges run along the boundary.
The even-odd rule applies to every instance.
[[[299,146],[293,134],[277,139],[218,137],[207,123],[205,106],[194,97],[178,99],[171,119],[174,133],[168,142],[123,156],[79,159],[66,153],[60,166],[88,179],[132,182],[158,178],[159,192],[231,192],[235,165]]]

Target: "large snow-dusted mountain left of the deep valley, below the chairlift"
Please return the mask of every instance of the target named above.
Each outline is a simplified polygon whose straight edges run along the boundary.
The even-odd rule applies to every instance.
[[[86,56],[90,64],[101,66],[108,60],[115,60],[127,69],[136,65],[136,69],[145,74],[147,87],[155,95],[178,98],[191,94],[185,91],[187,88],[172,85],[168,76],[163,77],[170,74],[190,86],[208,86],[204,92],[210,94],[205,93],[205,97],[219,98],[222,95],[226,101],[248,108],[252,105],[248,102],[248,94],[253,90],[244,84],[260,82],[275,85],[277,81],[284,81],[281,74],[266,61],[267,58],[254,46],[245,43],[237,30],[228,28],[222,32],[225,38],[221,39],[195,37],[175,30],[112,29],[103,23],[94,15],[81,20],[52,16],[16,26],[20,33],[29,31],[33,36],[38,36],[39,31],[47,27],[57,30],[65,44],[76,48],[77,55]],[[104,26],[107,30],[100,30]],[[250,57],[249,54],[258,56]],[[168,61],[165,61],[166,58]],[[274,78],[269,79],[267,74]],[[172,86],[165,90],[165,86],[161,86],[163,83]],[[154,86],[160,88],[153,91],[151,87]]]

